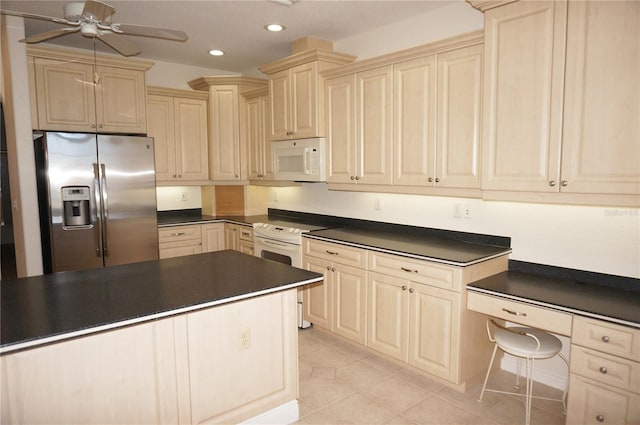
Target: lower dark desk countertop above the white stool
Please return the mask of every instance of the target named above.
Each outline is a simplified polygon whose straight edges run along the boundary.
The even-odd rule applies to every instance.
[[[640,328],[640,286],[636,288],[624,289],[515,270],[467,285],[473,292]]]

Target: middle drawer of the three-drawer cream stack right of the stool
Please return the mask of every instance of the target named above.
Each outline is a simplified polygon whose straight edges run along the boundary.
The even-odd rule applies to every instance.
[[[571,345],[571,373],[640,393],[640,363]]]

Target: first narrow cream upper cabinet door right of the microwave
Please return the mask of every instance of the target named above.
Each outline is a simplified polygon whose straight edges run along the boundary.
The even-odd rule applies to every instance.
[[[355,74],[325,83],[329,183],[353,183],[356,175],[355,87]]]

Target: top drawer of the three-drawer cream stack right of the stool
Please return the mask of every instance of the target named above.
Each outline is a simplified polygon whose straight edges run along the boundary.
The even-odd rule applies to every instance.
[[[604,353],[637,360],[640,358],[640,330],[576,316],[573,320],[572,344]]]

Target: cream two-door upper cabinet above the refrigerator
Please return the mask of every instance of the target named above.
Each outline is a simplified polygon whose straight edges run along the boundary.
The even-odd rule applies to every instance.
[[[37,117],[41,130],[144,134],[145,70],[117,66],[57,49],[29,48],[33,56]]]

